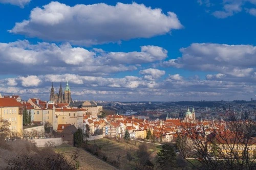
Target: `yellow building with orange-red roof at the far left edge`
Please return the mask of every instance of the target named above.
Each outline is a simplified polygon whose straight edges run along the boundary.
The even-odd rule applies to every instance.
[[[8,120],[11,131],[22,132],[23,105],[14,98],[0,98],[1,118]]]

